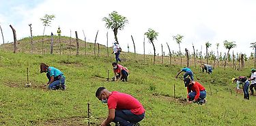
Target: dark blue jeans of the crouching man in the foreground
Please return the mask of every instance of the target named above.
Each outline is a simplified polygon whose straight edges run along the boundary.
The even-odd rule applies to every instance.
[[[133,114],[130,110],[115,110],[115,119],[114,123],[119,122],[122,126],[132,126],[142,119],[145,116],[145,112],[143,114]]]

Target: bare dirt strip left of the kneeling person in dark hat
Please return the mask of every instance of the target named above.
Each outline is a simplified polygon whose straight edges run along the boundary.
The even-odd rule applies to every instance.
[[[182,97],[173,97],[170,95],[160,94],[160,93],[154,93],[152,94],[154,97],[158,97],[160,99],[165,99],[167,101],[175,101],[176,103],[180,104],[187,104],[187,99],[184,99]]]

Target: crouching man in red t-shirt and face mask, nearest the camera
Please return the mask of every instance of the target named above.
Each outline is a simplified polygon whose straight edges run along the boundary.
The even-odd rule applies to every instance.
[[[109,116],[101,126],[109,125],[111,122],[120,126],[137,126],[145,116],[142,104],[126,93],[110,92],[104,87],[99,87],[96,97],[109,108]]]

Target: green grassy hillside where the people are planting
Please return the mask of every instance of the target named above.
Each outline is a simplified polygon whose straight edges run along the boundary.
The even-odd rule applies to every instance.
[[[40,37],[34,39],[40,41]],[[68,42],[68,38],[66,40]],[[106,57],[104,46],[100,46],[99,57],[94,57],[94,46],[88,44],[87,56],[74,56],[73,47],[73,55],[68,58],[67,49],[61,55],[58,50],[53,55],[48,51],[42,55],[38,54],[41,44],[35,45],[38,51],[34,54],[27,49],[27,38],[19,42],[17,54],[12,53],[12,45],[1,46],[4,48],[0,52],[1,125],[87,125],[88,102],[91,104],[91,125],[99,125],[107,115],[107,106],[95,97],[99,86],[137,97],[146,110],[141,125],[255,125],[255,96],[244,100],[242,93],[234,90],[236,85],[231,84],[231,78],[250,74],[250,67],[240,72],[230,67],[226,70],[216,68],[212,75],[192,67],[195,80],[201,82],[208,92],[208,103],[199,106],[184,102],[186,88],[182,76],[175,78],[180,70],[178,59],[174,59],[173,65],[168,65],[169,59],[165,57],[164,65],[160,65],[158,57],[157,64],[152,65],[150,55],[144,62],[143,55],[134,59],[134,54],[123,52],[121,64],[130,69],[129,81],[107,82],[108,69],[113,76],[113,55]],[[40,62],[61,69],[66,76],[66,91],[48,91],[43,86],[47,80],[46,75],[39,72]],[[29,88],[25,88],[27,67],[32,84]],[[173,97],[174,84],[176,98]]]

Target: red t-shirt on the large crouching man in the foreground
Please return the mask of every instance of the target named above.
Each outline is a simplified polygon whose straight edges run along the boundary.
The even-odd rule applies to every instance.
[[[137,99],[131,95],[117,91],[112,91],[111,95],[109,95],[108,107],[109,109],[116,110],[130,110],[133,114],[137,115],[145,112],[142,104]]]

